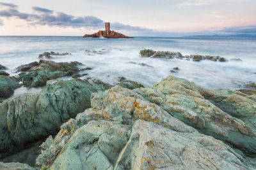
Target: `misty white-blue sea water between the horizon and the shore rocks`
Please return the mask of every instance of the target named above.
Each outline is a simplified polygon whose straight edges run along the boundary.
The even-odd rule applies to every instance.
[[[183,55],[220,55],[229,61],[153,59],[141,57],[139,52],[142,49],[168,50]],[[111,84],[117,83],[118,77],[124,76],[148,87],[170,74],[194,81],[197,85],[212,90],[241,89],[248,81],[256,82],[256,39],[84,39],[70,36],[0,36],[0,64],[8,67],[7,72],[13,76],[17,75],[15,67],[38,61],[40,53],[51,51],[72,53],[55,56],[51,60],[82,62],[84,66],[81,67],[93,68],[84,71],[89,77]],[[242,61],[231,61],[233,58]],[[180,71],[171,73],[173,67],[179,67]],[[24,90],[26,91],[19,89],[16,94]]]

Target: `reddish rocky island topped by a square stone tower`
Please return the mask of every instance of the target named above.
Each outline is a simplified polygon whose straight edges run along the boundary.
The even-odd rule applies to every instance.
[[[132,38],[110,30],[110,23],[105,22],[105,31],[98,31],[95,34],[85,34],[84,38]]]

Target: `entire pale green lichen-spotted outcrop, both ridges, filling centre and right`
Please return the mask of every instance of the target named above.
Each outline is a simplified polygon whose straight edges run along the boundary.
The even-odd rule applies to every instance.
[[[174,76],[151,88],[94,93],[92,108],[61,125],[36,162],[43,169],[255,169],[255,159],[223,143],[254,152],[255,129],[205,99],[217,94]]]

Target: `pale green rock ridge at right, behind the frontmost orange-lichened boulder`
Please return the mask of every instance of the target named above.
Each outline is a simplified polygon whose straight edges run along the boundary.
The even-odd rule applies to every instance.
[[[221,95],[175,76],[135,90],[198,131],[256,153],[256,103],[246,94]]]

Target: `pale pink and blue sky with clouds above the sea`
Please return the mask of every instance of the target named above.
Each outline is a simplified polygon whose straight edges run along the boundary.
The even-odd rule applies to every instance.
[[[256,34],[255,0],[0,0],[0,36]]]

